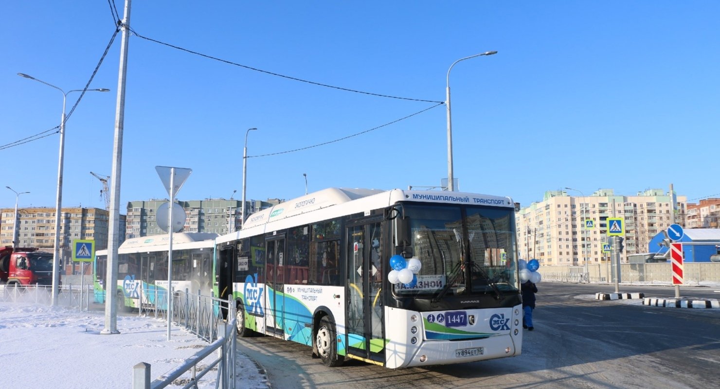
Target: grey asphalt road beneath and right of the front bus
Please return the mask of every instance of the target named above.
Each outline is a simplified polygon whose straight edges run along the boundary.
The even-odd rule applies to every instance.
[[[240,339],[273,388],[717,388],[720,310],[658,308],[641,301],[596,301],[613,285],[539,283],[535,331],[518,357],[390,370],[347,361],[328,368],[309,347],[271,337]],[[672,297],[672,287],[621,286]],[[719,298],[712,288],[682,296]]]

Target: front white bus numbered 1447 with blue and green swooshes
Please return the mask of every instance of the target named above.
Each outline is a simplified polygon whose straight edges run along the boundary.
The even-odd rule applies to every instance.
[[[521,353],[510,198],[328,188],[252,214],[216,242],[213,288],[236,301],[240,336],[306,344],[328,366]],[[413,263],[412,280],[398,282],[391,263]]]

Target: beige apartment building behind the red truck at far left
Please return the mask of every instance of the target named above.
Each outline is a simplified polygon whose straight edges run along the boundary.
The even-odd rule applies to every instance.
[[[12,246],[15,209],[0,209],[0,245]],[[55,250],[55,207],[20,208],[17,210],[17,246]],[[94,240],[95,250],[107,249],[109,212],[99,208],[63,208],[60,214],[60,263],[71,274],[74,239]],[[125,215],[120,215],[120,231],[125,230]],[[125,236],[120,234],[120,243]],[[68,266],[69,265],[69,266]]]

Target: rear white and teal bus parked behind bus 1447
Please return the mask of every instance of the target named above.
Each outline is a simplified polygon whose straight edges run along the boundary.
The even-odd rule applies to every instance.
[[[217,234],[173,234],[173,289],[190,293],[198,290],[210,296],[212,262]],[[117,307],[167,307],[169,235],[127,239],[117,250]],[[93,266],[94,301],[104,303],[107,250],[98,250]]]

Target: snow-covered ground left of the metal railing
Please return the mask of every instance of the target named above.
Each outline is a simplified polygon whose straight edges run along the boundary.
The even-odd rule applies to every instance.
[[[102,329],[104,311],[0,303],[2,388],[132,388],[139,362],[151,365],[154,380],[207,346],[178,327],[168,341],[167,322],[147,317],[117,316],[120,334]],[[267,388],[252,360],[236,358],[237,388]],[[216,375],[208,372],[200,388],[215,388]]]

